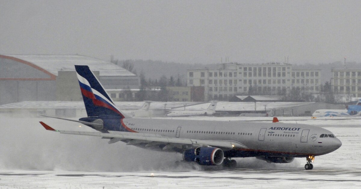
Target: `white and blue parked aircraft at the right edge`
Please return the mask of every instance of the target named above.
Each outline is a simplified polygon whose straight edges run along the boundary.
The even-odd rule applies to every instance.
[[[348,105],[346,109],[318,109],[312,116],[360,116],[361,115],[361,100],[355,105]]]

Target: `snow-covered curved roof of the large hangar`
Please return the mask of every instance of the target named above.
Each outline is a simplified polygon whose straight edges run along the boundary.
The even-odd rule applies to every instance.
[[[56,76],[58,71],[75,71],[74,65],[87,65],[91,70],[99,71],[100,76],[136,76],[111,62],[83,55],[4,54],[4,56],[32,63]]]

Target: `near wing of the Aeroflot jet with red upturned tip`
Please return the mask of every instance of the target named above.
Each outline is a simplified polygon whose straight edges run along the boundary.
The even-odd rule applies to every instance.
[[[237,141],[232,140],[198,140],[198,139],[186,139],[186,138],[175,138],[175,137],[167,137],[163,135],[157,134],[147,134],[147,133],[135,133],[135,132],[122,132],[122,131],[109,131],[110,133],[102,133],[102,132],[84,132],[84,131],[65,131],[65,130],[55,130],[52,127],[48,126],[44,122],[40,121],[40,124],[46,129],[50,131],[60,132],[62,134],[72,134],[72,135],[87,135],[87,136],[99,136],[108,139],[131,139],[138,140],[144,142],[160,142],[160,143],[173,143],[173,144],[190,144],[195,147],[218,147],[225,149],[247,149],[247,147],[239,143]],[[118,141],[118,140],[116,140]],[[112,143],[112,140],[109,142]]]

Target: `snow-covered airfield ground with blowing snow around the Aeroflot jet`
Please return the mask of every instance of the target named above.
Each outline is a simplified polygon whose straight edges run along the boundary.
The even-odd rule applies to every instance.
[[[74,127],[62,125],[66,122],[61,120],[40,119],[66,129]],[[313,170],[304,170],[304,158],[285,164],[236,158],[238,167],[233,170],[174,167],[172,162],[181,159],[180,154],[123,143],[109,145],[107,140],[91,136],[61,135],[44,130],[38,121],[0,116],[0,188],[361,187],[358,120],[349,121],[351,125],[342,120],[327,121],[326,126],[316,124],[333,132],[343,145],[335,152],[317,156]]]

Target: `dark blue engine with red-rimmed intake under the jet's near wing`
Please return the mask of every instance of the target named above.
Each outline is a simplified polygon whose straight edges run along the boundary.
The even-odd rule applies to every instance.
[[[214,147],[198,147],[183,152],[184,161],[195,161],[199,165],[220,165],[223,158],[223,150]]]

